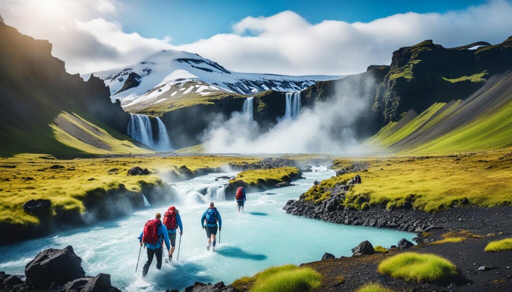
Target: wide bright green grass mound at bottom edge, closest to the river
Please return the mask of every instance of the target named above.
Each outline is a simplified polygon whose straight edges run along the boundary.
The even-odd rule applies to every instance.
[[[307,292],[320,287],[322,279],[312,268],[289,264],[267,268],[253,277],[242,277],[232,286],[249,288],[251,292]]]

